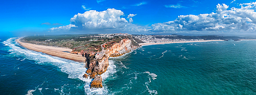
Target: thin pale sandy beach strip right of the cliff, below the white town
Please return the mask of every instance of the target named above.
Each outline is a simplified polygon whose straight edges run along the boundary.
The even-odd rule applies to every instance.
[[[224,40],[203,40],[203,41],[180,41],[180,42],[161,42],[161,43],[140,43],[139,45],[157,45],[157,44],[171,44],[171,43],[195,43],[195,42],[214,42]]]

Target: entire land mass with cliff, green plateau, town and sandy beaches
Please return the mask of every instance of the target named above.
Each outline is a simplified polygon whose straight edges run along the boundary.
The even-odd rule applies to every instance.
[[[239,39],[239,37],[219,36],[90,34],[31,36],[17,39],[16,42],[30,50],[84,62],[87,71],[82,77],[94,79],[91,88],[101,88],[100,75],[108,69],[109,57],[121,56],[143,45],[224,41],[222,38]]]

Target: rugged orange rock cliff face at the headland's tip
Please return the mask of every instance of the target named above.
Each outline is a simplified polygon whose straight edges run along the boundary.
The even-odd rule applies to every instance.
[[[123,39],[119,43],[116,43],[110,48],[102,50],[101,52],[97,52],[96,54],[88,54],[84,51],[81,51],[80,54],[83,57],[86,57],[86,60],[84,60],[84,62],[86,63],[86,68],[88,69],[86,73],[90,78],[95,78],[96,76],[99,77],[99,75],[106,72],[109,66],[109,57],[121,56],[127,52],[131,52],[138,47],[139,46],[134,46],[130,39]],[[84,74],[84,76],[87,75]],[[101,80],[99,82],[99,80],[94,79],[92,83],[94,83],[95,85],[91,84],[91,87],[102,87],[102,82]]]

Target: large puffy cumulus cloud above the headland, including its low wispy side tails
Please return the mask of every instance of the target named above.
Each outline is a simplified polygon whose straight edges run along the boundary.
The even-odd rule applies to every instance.
[[[70,19],[71,24],[60,27],[53,27],[50,30],[60,30],[60,29],[117,29],[117,30],[135,30],[142,31],[148,27],[142,27],[135,24],[132,24],[133,19],[130,18],[129,22],[122,18],[124,13],[121,10],[116,9],[107,9],[106,11],[95,11],[90,10],[84,12],[83,14],[76,14],[73,18]],[[135,15],[130,15],[135,16]],[[133,29],[134,28],[134,29]]]

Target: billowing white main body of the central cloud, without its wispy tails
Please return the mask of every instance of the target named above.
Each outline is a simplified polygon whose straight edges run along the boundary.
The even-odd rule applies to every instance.
[[[83,28],[122,28],[127,21],[120,18],[124,13],[121,10],[107,9],[106,11],[98,12],[95,10],[78,13],[70,19],[71,24]]]

